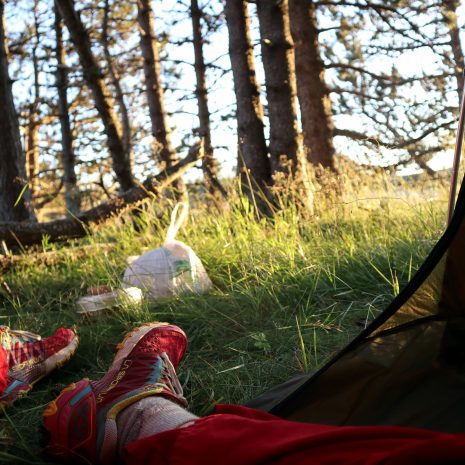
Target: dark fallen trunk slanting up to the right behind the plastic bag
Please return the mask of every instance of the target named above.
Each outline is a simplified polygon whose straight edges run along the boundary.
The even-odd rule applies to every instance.
[[[142,184],[127,190],[120,196],[72,218],[44,223],[0,222],[0,242],[4,241],[7,246],[25,246],[39,244],[44,237],[47,237],[50,242],[83,237],[88,234],[91,224],[101,223],[149,196],[160,195],[163,189],[191,168],[201,157],[201,150],[192,150],[176,165],[156,176],[148,177]]]

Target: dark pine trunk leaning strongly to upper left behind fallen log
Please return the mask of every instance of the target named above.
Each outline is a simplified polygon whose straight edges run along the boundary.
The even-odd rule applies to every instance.
[[[130,154],[124,148],[119,121],[109,99],[110,93],[103,80],[102,71],[92,53],[89,34],[74,8],[73,0],[57,0],[57,5],[76,47],[84,78],[92,91],[95,107],[105,127],[113,170],[121,190],[126,191],[134,186]]]

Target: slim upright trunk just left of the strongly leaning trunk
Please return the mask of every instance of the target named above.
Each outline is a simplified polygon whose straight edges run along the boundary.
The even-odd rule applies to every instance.
[[[73,136],[71,123],[69,120],[68,106],[68,73],[65,63],[65,51],[63,48],[63,29],[60,12],[57,4],[54,4],[55,11],[55,57],[57,60],[56,87],[58,91],[58,112],[61,126],[61,145],[63,163],[63,181],[65,184],[66,208],[72,214],[79,213],[81,209],[81,199],[77,186],[76,173],[74,170],[76,157],[73,150]]]

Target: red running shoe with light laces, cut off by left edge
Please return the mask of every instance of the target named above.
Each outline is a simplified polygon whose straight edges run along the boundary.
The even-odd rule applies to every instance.
[[[78,344],[78,336],[67,328],[59,328],[53,336],[42,339],[38,334],[0,326],[0,345],[6,351],[8,363],[0,407],[12,404],[37,381],[62,366],[76,352]]]

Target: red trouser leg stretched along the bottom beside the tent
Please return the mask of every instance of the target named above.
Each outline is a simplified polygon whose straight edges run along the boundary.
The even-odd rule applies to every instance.
[[[290,422],[239,406],[126,447],[126,465],[445,465],[465,463],[465,435],[402,427]]]

